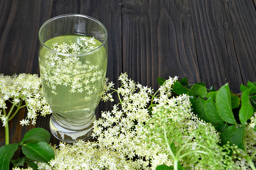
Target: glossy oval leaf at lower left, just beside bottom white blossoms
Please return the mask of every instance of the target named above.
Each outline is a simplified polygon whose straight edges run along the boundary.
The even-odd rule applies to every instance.
[[[45,142],[22,144],[22,152],[27,158],[48,163],[54,159],[54,151],[51,146]]]

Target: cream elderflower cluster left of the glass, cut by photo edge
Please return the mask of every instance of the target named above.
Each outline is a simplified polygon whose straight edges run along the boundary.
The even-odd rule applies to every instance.
[[[14,76],[0,75],[0,119],[3,126],[9,117],[7,115],[7,102],[11,102],[16,109],[26,107],[27,116],[20,121],[22,126],[36,123],[37,113],[41,116],[52,113],[50,106],[44,98],[41,80],[37,75],[19,74]],[[18,110],[17,110],[18,111]],[[9,115],[10,116],[10,115]]]

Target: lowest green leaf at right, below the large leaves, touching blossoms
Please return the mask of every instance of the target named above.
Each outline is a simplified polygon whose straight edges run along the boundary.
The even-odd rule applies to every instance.
[[[244,134],[245,134],[245,126],[235,128],[230,136],[230,141],[232,144],[238,146],[238,148],[245,151],[244,147]]]

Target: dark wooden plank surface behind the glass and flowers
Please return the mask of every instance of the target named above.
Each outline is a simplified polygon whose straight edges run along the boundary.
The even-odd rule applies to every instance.
[[[0,73],[39,74],[38,30],[68,13],[106,26],[107,77],[115,85],[122,72],[155,90],[159,76],[217,89],[228,82],[237,93],[256,81],[256,0],[0,0]],[[97,112],[111,105],[101,102]],[[9,122],[10,143],[35,127],[19,125],[25,116],[23,109]],[[49,119],[38,117],[36,127],[49,130]],[[58,144],[53,136],[51,142]]]

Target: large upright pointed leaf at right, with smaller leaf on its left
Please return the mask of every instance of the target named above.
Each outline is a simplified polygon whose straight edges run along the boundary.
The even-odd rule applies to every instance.
[[[231,97],[229,84],[223,85],[216,95],[216,108],[221,119],[230,123],[237,124],[232,112]]]

